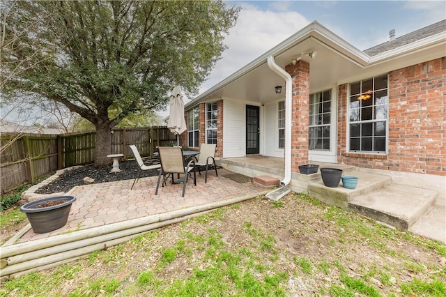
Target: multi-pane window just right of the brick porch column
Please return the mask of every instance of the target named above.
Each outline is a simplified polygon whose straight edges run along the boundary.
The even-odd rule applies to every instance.
[[[313,93],[309,96],[308,148],[330,151],[331,91]]]

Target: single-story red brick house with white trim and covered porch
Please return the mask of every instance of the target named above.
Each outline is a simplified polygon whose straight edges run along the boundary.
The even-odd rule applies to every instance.
[[[187,103],[185,116],[183,146],[284,158],[282,184],[309,160],[444,183],[446,20],[364,51],[312,22]]]

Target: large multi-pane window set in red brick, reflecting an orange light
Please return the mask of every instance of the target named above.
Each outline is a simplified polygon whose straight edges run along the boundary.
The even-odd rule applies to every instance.
[[[385,153],[387,137],[387,75],[350,85],[348,125],[350,151]]]

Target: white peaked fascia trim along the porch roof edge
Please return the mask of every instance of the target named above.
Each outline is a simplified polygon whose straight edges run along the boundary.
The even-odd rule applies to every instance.
[[[286,52],[286,50],[289,50],[291,47],[298,45],[298,43],[301,43],[302,40],[305,40],[311,36],[317,39],[319,38],[323,39],[323,43],[325,44],[332,43],[334,45],[337,45],[339,49],[345,50],[346,53],[344,54],[348,54],[348,56],[351,56],[353,59],[356,58],[354,60],[359,61],[361,64],[367,63],[369,60],[369,56],[367,56],[367,54],[364,54],[353,45],[347,43],[346,40],[340,38],[332,31],[325,28],[325,26],[322,26],[318,22],[314,21],[305,26],[302,30],[298,31],[297,33],[293,34],[286,40],[282,41],[282,43],[279,43],[279,45],[273,47],[265,54],[262,54],[257,59],[254,59],[254,61],[252,61],[251,63],[248,63],[243,68],[240,68],[240,70],[236,71],[232,75],[229,75],[229,77],[226,77],[226,79],[223,79],[218,84],[215,84],[215,86],[201,93],[201,95],[197,96],[192,101],[188,102],[185,105],[185,108],[189,108],[192,105],[196,105],[197,102],[199,102],[203,98],[206,98],[207,96],[209,96],[212,93],[215,93],[216,91],[223,88],[227,84],[230,84],[236,79],[243,77],[244,75],[247,75],[252,70],[267,63],[268,56],[278,56],[279,54]]]

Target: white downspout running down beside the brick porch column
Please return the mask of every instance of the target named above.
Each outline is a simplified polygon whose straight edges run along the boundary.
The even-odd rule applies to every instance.
[[[273,56],[268,56],[268,66],[285,79],[285,176],[280,184],[288,185],[291,181],[291,109],[293,107],[291,102],[293,94],[291,92],[293,79],[289,73],[277,66]]]

